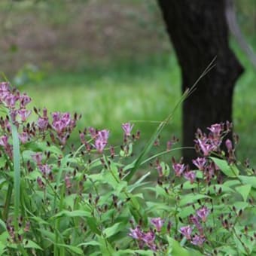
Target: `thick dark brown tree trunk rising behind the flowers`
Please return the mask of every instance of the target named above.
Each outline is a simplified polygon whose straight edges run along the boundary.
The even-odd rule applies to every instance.
[[[233,88],[242,66],[228,44],[224,0],[158,0],[181,66],[182,91],[191,87],[216,56],[216,66],[183,103],[183,146],[194,146],[197,128],[232,121]],[[182,152],[186,163],[196,157]]]

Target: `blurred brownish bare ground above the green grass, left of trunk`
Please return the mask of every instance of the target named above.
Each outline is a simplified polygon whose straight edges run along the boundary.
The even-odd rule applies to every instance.
[[[1,6],[2,5],[2,6]],[[25,63],[74,71],[170,51],[154,0],[0,4],[2,72]]]

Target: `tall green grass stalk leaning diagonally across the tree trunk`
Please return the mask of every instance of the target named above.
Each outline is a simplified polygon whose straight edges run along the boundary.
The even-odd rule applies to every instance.
[[[216,57],[214,59],[212,59],[212,62],[209,63],[209,66],[207,66],[207,68],[203,71],[202,75],[200,75],[200,77],[197,79],[197,81],[194,83],[194,85],[184,91],[184,93],[182,94],[181,98],[178,100],[178,102],[176,103],[175,107],[173,108],[171,114],[169,114],[169,116],[166,117],[166,119],[163,120],[160,123],[160,125],[157,127],[157,130],[155,130],[155,132],[151,136],[151,139],[149,139],[148,143],[145,145],[145,148],[143,148],[142,153],[139,154],[139,157],[130,166],[126,166],[126,169],[124,169],[124,170],[126,170],[126,171],[129,170],[130,171],[130,173],[125,178],[126,181],[129,182],[131,180],[131,178],[133,178],[133,175],[139,169],[139,166],[142,165],[142,162],[143,162],[145,156],[151,150],[152,146],[154,145],[154,142],[156,141],[156,139],[158,138],[158,136],[162,132],[163,128],[172,120],[172,117],[174,116],[175,111],[177,111],[179,105],[181,105],[181,103],[184,102],[184,100],[187,99],[187,97],[189,97],[194,92],[194,90],[197,89],[198,82],[208,72],[210,72],[215,67],[215,64],[214,64],[215,59],[216,59]]]

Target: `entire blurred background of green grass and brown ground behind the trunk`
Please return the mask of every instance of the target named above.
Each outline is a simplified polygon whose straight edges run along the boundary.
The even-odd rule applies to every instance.
[[[142,147],[181,96],[180,69],[156,2],[10,3],[0,3],[0,32],[5,35],[0,41],[0,70],[32,96],[33,105],[77,111],[83,115],[78,130],[107,128],[113,144],[122,139],[120,124],[133,120],[142,131]],[[237,3],[242,29],[254,47],[253,2]],[[255,166],[254,68],[235,41],[231,46],[245,67],[233,101],[238,156],[249,157]],[[162,140],[173,135],[181,136],[180,108]]]

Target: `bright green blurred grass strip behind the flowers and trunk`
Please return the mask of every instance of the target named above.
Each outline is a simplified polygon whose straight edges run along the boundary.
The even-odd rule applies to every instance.
[[[233,43],[245,73],[236,84],[233,101],[233,122],[239,134],[239,160],[248,157],[256,164],[256,101],[254,69]],[[108,67],[84,69],[84,72],[51,72],[36,84],[21,90],[32,96],[33,105],[49,111],[70,111],[82,114],[72,137],[77,142],[78,130],[85,126],[111,130],[110,141],[122,139],[121,123],[132,121],[142,131],[141,145],[150,138],[181,96],[180,69],[175,56],[162,56],[148,62],[115,63]],[[216,102],[218,104],[218,102]],[[181,108],[163,131],[163,141],[173,135],[181,138]]]

